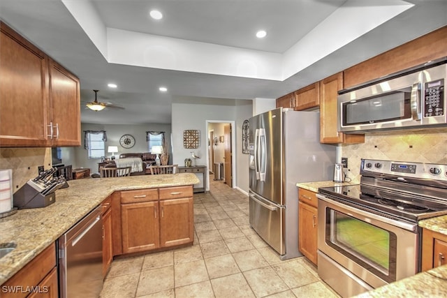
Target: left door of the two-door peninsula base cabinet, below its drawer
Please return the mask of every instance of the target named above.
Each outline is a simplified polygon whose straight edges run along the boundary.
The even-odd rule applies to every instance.
[[[123,253],[150,251],[160,247],[159,202],[122,204]]]

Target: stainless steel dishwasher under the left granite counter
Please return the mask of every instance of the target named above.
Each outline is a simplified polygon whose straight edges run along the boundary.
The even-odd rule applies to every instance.
[[[99,297],[103,287],[101,219],[101,208],[96,207],[59,238],[59,297]]]

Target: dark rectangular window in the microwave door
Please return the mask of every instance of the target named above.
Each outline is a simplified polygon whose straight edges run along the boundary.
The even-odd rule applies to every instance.
[[[343,125],[411,119],[411,87],[343,103]]]

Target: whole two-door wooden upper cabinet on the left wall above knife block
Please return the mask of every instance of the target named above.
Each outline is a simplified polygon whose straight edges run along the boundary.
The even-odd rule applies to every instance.
[[[0,22],[0,147],[80,146],[79,79]]]

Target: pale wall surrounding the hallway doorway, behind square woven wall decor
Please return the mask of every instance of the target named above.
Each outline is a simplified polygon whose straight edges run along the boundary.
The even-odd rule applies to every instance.
[[[244,119],[249,119],[252,115],[251,100],[233,100],[233,104],[219,104],[220,100],[214,99],[215,104],[207,101],[206,105],[197,102],[177,102],[172,107],[172,129],[173,129],[173,163],[184,165],[184,159],[191,157],[191,151],[198,156],[198,165],[207,165],[207,121],[231,122],[235,121],[233,135],[235,134],[235,144],[233,156],[235,156],[235,183],[233,186],[248,191],[248,156],[242,154],[242,132],[241,126]],[[183,147],[183,131],[186,129],[196,129],[200,131],[200,143],[198,149],[185,149]],[[236,133],[234,133],[236,132]],[[242,155],[242,156],[240,156]],[[244,157],[247,162],[244,163]],[[247,178],[239,181],[239,177]],[[242,174],[240,174],[242,173]],[[210,184],[207,184],[209,187]]]

